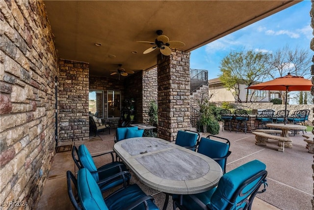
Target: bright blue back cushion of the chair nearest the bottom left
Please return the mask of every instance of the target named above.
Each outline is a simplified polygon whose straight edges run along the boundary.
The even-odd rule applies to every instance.
[[[86,168],[78,171],[78,197],[84,210],[108,210],[98,184]]]

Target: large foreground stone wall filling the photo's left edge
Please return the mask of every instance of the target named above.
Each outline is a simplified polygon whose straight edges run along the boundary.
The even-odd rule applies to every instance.
[[[0,8],[1,209],[16,201],[29,210],[55,154],[58,56],[42,0],[1,0]]]

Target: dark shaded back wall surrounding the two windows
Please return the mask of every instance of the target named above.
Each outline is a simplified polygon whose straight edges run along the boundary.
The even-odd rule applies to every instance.
[[[98,75],[89,75],[90,90],[104,90],[104,119],[107,119],[107,90],[120,90],[121,101],[124,101],[124,85],[123,81],[114,77],[101,77]],[[87,102],[88,103],[88,102]],[[88,113],[88,107],[87,107]],[[110,119],[111,127],[118,127],[120,119]]]

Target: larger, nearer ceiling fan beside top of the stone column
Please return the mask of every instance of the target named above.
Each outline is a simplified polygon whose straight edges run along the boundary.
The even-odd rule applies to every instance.
[[[165,35],[162,35],[162,30],[157,30],[157,38],[155,39],[155,42],[150,41],[137,41],[141,43],[149,43],[152,45],[155,45],[154,47],[150,47],[147,50],[143,52],[143,54],[150,53],[154,51],[156,48],[160,49],[160,53],[164,56],[170,56],[171,55],[171,48],[182,48],[185,46],[185,44],[181,41],[169,41],[169,38]]]

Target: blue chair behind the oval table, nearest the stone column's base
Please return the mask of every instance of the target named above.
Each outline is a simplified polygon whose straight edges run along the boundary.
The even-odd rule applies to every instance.
[[[177,133],[175,144],[189,150],[195,151],[200,139],[200,134],[192,130],[179,130]]]

